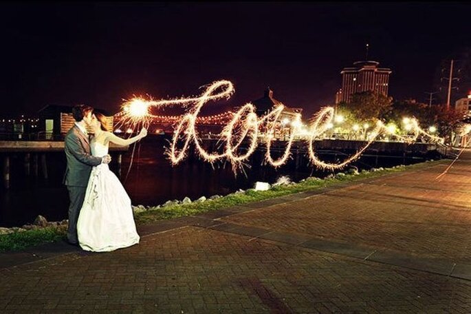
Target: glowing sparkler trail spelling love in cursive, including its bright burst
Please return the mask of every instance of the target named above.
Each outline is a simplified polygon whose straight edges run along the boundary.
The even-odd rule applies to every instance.
[[[359,158],[363,151],[367,149],[381,134],[395,136],[407,143],[412,143],[417,140],[418,136],[426,136],[437,142],[443,141],[443,138],[428,134],[424,129],[421,129],[417,120],[413,118],[408,121],[410,132],[413,133],[413,136],[394,134],[394,130],[391,131],[391,129],[386,127],[386,125],[381,121],[377,121],[375,128],[370,133],[369,139],[355,154],[349,156],[341,163],[326,163],[316,156],[314,149],[314,140],[316,140],[316,138],[320,138],[322,134],[327,132],[327,129],[329,129],[333,123],[334,109],[333,107],[325,107],[324,109],[321,109],[316,116],[314,116],[307,131],[303,129],[300,114],[296,114],[294,116],[294,121],[291,123],[290,127],[289,139],[285,145],[285,151],[280,158],[275,160],[272,158],[271,147],[275,138],[276,123],[280,120],[280,116],[283,113],[285,106],[277,105],[271,112],[265,114],[265,116],[259,117],[256,115],[256,108],[254,105],[247,103],[240,107],[237,112],[232,114],[232,119],[226,127],[223,128],[221,134],[219,134],[221,136],[221,141],[225,143],[225,145],[223,145],[223,151],[207,151],[204,149],[196,129],[199,118],[198,115],[201,112],[201,108],[208,103],[208,101],[217,101],[222,98],[228,99],[233,93],[234,85],[232,85],[230,81],[223,80],[206,85],[206,90],[204,90],[201,96],[198,97],[175,98],[172,100],[161,101],[145,101],[144,98],[135,98],[123,104],[123,110],[120,113],[122,118],[121,121],[124,121],[124,123],[131,123],[133,126],[138,126],[141,123],[145,126],[149,125],[151,118],[157,117],[155,114],[152,114],[154,107],[158,108],[169,105],[190,107],[188,112],[177,122],[173,141],[170,148],[166,151],[171,163],[173,165],[181,163],[186,157],[190,143],[193,143],[200,158],[203,158],[209,163],[215,163],[217,160],[228,160],[234,171],[241,167],[244,161],[248,160],[250,155],[254,153],[256,147],[258,147],[259,139],[263,140],[263,138],[265,139],[266,146],[265,162],[274,167],[279,167],[285,164],[289,158],[291,147],[296,136],[307,135],[309,160],[312,165],[323,169],[341,169],[342,167],[345,167],[353,160]],[[247,147],[244,147],[244,149],[246,149],[244,153],[241,152],[243,150],[241,147],[243,143],[248,143]]]

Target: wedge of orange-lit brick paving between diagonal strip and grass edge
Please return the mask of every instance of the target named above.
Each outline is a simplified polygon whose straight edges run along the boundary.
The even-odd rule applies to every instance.
[[[428,258],[471,262],[471,163],[444,165],[221,218]]]

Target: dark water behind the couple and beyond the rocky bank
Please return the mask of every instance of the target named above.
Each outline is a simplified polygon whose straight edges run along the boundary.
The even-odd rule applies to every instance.
[[[230,164],[218,163],[213,167],[209,163],[190,156],[184,163],[172,167],[164,156],[164,146],[168,147],[166,136],[148,136],[135,145],[131,170],[133,146],[122,158],[121,180],[129,193],[133,205],[159,205],[166,200],[182,200],[188,196],[192,200],[200,196],[215,194],[226,195],[238,189],[248,189],[256,181],[273,183],[276,178],[287,175],[298,181],[308,176],[323,177],[329,171],[318,171],[308,165],[307,158],[301,157],[296,169],[296,160],[289,160],[287,165],[274,169],[261,165],[263,151],[251,156],[245,174],[239,172],[234,176]],[[113,156],[113,154],[112,154]],[[276,156],[276,155],[275,155]],[[274,157],[275,157],[274,156]],[[321,155],[322,156],[322,155]],[[340,155],[339,155],[340,156]],[[324,160],[333,161],[334,155],[322,156]],[[111,170],[118,174],[116,155],[110,164]],[[364,156],[352,164],[360,169],[371,167],[390,167],[393,165],[417,163],[423,159],[375,158]],[[0,188],[0,227],[21,226],[30,223],[39,214],[47,220],[67,218],[69,198],[67,189],[61,184],[65,170],[65,154],[62,152],[47,154],[49,179],[25,176],[23,155],[12,156],[10,161],[10,189]],[[41,171],[39,171],[41,173]]]

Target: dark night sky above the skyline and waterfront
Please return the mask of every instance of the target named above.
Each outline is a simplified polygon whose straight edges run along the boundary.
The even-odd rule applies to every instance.
[[[466,3],[83,3],[0,5],[0,117],[122,98],[192,96],[229,79],[218,112],[263,96],[330,105],[340,71],[393,70],[389,94],[425,101],[443,59],[471,46]],[[211,112],[211,113],[212,113]]]

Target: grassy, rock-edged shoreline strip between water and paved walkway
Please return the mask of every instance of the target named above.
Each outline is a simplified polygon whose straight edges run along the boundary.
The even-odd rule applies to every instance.
[[[395,172],[423,167],[424,165],[443,163],[441,160],[427,160],[424,163],[413,165],[398,165],[390,168],[372,168],[371,170],[355,171],[353,168],[338,174],[331,174],[326,178],[309,177],[299,182],[291,182],[289,179],[278,179],[273,185],[268,185],[268,189],[256,190],[239,189],[226,196],[211,196],[192,201],[189,198],[184,200],[168,200],[163,205],[148,206],[132,205],[134,220],[136,225],[151,224],[159,220],[169,220],[183,216],[194,216],[198,213],[216,211],[226,207],[243,205],[250,202],[277,198],[293,193],[300,193],[314,189],[335,187],[342,183],[355,183],[361,180],[375,178],[393,174]],[[29,227],[27,227],[29,226]],[[26,228],[23,228],[26,227]],[[67,231],[67,220],[61,222],[47,222],[45,218],[36,218],[33,224],[23,225],[23,227],[0,228],[0,252],[18,251],[37,244],[46,242],[56,242],[65,238]]]

